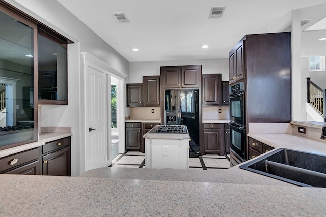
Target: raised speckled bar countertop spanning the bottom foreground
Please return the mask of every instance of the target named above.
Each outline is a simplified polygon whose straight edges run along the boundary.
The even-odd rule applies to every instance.
[[[1,216],[326,215],[326,189],[321,188],[91,177],[0,177]]]

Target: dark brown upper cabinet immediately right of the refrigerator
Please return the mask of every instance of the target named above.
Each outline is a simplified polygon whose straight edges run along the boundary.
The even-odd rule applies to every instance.
[[[203,74],[203,105],[221,106],[221,74]]]

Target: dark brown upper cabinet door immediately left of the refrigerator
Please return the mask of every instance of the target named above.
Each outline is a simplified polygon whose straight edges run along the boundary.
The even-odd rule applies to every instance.
[[[143,105],[160,106],[160,76],[143,76]]]

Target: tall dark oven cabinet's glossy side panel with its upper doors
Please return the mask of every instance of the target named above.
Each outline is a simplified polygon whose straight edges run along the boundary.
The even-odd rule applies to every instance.
[[[242,48],[241,48],[242,47]],[[291,121],[291,33],[246,35],[230,53],[236,79],[245,82],[248,123],[288,123]],[[232,55],[231,55],[232,56]],[[230,56],[230,66],[234,57]],[[230,70],[230,78],[234,75]],[[241,72],[241,73],[240,73]],[[231,80],[230,80],[231,85]]]

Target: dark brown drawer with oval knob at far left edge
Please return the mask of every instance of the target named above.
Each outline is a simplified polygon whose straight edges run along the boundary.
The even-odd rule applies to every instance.
[[[0,159],[0,171],[4,171],[16,166],[25,164],[39,158],[39,149],[34,148],[31,150],[12,154]]]

